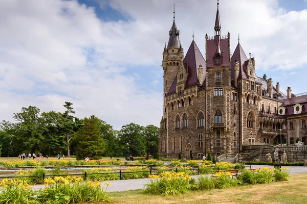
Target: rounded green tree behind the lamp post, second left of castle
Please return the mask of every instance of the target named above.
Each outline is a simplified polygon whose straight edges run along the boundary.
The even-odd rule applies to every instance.
[[[129,154],[134,157],[146,155],[146,141],[143,132],[144,127],[135,123],[122,126],[118,137],[124,151],[123,155],[127,154],[127,147],[129,147]]]

